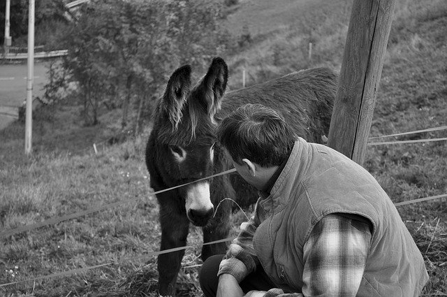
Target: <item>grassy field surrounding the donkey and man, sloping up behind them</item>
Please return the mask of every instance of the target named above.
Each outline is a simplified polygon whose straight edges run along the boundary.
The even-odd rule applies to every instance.
[[[230,89],[293,70],[342,61],[350,1],[240,1],[228,29],[240,34],[245,22],[252,41],[224,57]],[[447,2],[399,0],[383,67],[370,136],[447,124]],[[287,9],[284,9],[287,8]],[[247,13],[251,11],[251,15]],[[276,12],[276,13],[274,13]],[[262,17],[256,17],[262,15]],[[233,17],[233,18],[232,18]],[[256,30],[257,31],[256,31]],[[307,45],[314,43],[312,61]],[[82,273],[0,287],[0,296],[158,296],[156,257],[158,205],[149,196],[144,163],[149,127],[119,145],[106,140],[119,130],[119,110],[103,114],[96,127],[82,126],[78,107],[68,103],[39,110],[34,121],[33,157],[24,157],[24,125],[0,131],[0,230],[128,201],[0,240],[0,284],[107,264]],[[447,137],[433,131],[397,140]],[[388,139],[386,139],[388,140]],[[97,143],[98,154],[94,154]],[[365,168],[395,203],[447,193],[446,142],[369,146]],[[402,219],[423,254],[430,281],[423,296],[447,296],[446,199],[404,205]],[[232,217],[231,233],[244,221]],[[191,226],[189,247],[177,287],[180,296],[200,296],[201,231]]]

